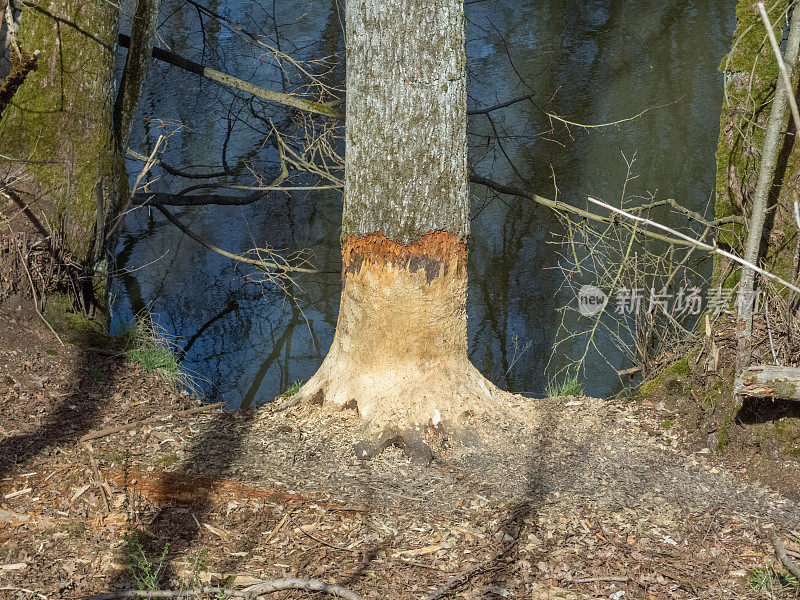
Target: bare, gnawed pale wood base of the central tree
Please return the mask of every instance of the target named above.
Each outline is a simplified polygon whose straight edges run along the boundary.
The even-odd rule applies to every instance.
[[[442,443],[474,444],[469,417],[495,386],[467,358],[466,246],[434,232],[403,246],[381,234],[344,245],[336,335],[317,373],[292,398],[364,420],[361,458],[390,445],[430,460]]]

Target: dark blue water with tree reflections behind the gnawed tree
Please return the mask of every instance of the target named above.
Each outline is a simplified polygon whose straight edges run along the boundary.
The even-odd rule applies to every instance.
[[[326,2],[216,0],[208,6],[297,58],[341,53],[339,15]],[[278,6],[276,9],[275,7]],[[714,189],[719,130],[720,59],[735,25],[730,2],[709,0],[518,3],[468,2],[470,107],[532,93],[536,106],[514,104],[470,118],[470,159],[477,173],[585,207],[586,195],[617,202],[626,160],[636,178],[627,195],[657,192],[704,214]],[[241,35],[200,17],[180,0],[162,3],[160,33],[170,49],[272,89],[290,89],[292,74]],[[330,81],[341,81],[341,66]],[[245,159],[270,179],[274,148],[248,108],[247,97],[174,67],[156,64],[131,146],[147,153],[161,133],[172,133],[163,160],[216,170]],[[551,123],[541,109],[571,121],[604,123],[664,105],[636,120],[584,130]],[[498,144],[496,132],[507,135]],[[226,142],[227,139],[227,142]],[[623,156],[624,155],[624,156]],[[510,161],[510,162],[509,162]],[[512,166],[513,165],[513,166]],[[129,162],[131,173],[141,163]],[[149,189],[176,193],[196,184],[155,168]],[[228,183],[252,183],[246,173]],[[229,189],[205,193],[246,195]],[[174,336],[183,366],[209,399],[232,405],[267,401],[295,380],[309,378],[325,356],[336,324],[340,292],[341,199],[331,191],[271,193],[248,206],[173,209],[210,242],[234,252],[269,245],[310,249],[323,274],[298,276],[290,292],[248,281],[247,269],[203,249],[157,212],[139,209],[126,221],[119,247],[113,324],[137,312]],[[543,393],[548,377],[583,353],[585,335],[557,347],[550,365],[559,308],[575,303],[563,286],[563,224],[530,201],[494,198],[473,188],[468,300],[470,356],[492,381],[514,392]],[[662,215],[668,222],[670,217]],[[700,274],[710,261],[695,265]],[[587,281],[591,283],[591,281]],[[579,334],[590,321],[568,319]],[[563,333],[563,332],[562,332]],[[582,345],[583,344],[583,345]],[[616,369],[629,366],[610,340],[598,336],[581,378],[593,395],[620,385]]]

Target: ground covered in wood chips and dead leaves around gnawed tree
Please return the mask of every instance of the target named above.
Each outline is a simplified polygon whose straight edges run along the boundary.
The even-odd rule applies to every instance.
[[[658,407],[509,394],[482,448],[359,461],[351,411],[224,412],[12,302],[0,328],[0,597],[282,577],[392,600],[796,596],[770,537],[800,557],[798,482],[747,481]]]

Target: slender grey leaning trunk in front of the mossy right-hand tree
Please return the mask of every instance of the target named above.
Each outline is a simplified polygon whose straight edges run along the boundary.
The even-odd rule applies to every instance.
[[[792,24],[789,30],[789,40],[786,44],[784,62],[790,72],[794,72],[797,62],[798,47],[800,47],[800,14],[792,15]],[[767,215],[770,191],[772,188],[775,165],[778,159],[778,145],[782,139],[781,132],[785,127],[786,109],[788,105],[788,94],[784,85],[783,78],[778,75],[775,87],[775,96],[772,100],[769,119],[767,121],[767,132],[764,138],[764,147],[761,151],[761,164],[758,172],[758,182],[753,194],[750,220],[747,228],[747,241],[745,243],[744,259],[752,264],[759,262],[762,246],[762,236],[764,232],[764,222]],[[753,305],[754,294],[753,286],[755,282],[755,271],[743,268],[742,278],[739,281],[739,298],[737,302],[736,319],[736,378],[734,392],[742,388],[743,374],[750,365],[752,354],[753,338]]]

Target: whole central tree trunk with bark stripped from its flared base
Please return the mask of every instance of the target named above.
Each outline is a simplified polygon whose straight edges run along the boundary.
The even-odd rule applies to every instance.
[[[296,401],[356,408],[362,457],[387,443],[424,457],[496,391],[467,358],[463,8],[348,0],[346,26],[342,298]]]

